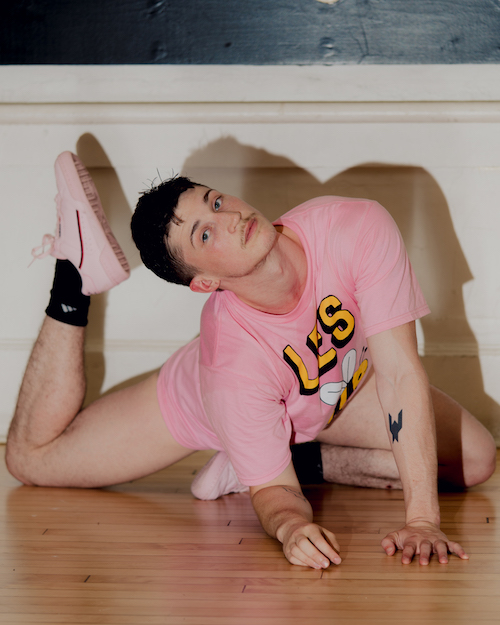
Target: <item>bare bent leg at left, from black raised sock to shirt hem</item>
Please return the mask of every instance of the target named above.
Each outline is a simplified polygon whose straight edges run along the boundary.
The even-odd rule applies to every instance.
[[[7,440],[26,484],[97,487],[142,477],[192,453],[165,426],[156,376],[83,411],[85,329],[47,317],[30,357]]]

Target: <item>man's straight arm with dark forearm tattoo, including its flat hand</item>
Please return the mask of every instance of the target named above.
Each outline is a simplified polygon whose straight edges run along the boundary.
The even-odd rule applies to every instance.
[[[432,553],[441,563],[448,551],[467,559],[463,548],[439,529],[437,449],[429,381],[417,352],[415,323],[368,339],[377,393],[398,466],[405,499],[406,524],[382,541],[388,555],[402,549],[402,562],[420,556],[428,564]]]

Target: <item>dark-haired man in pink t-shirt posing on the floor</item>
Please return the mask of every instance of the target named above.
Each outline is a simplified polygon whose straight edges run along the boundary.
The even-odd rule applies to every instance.
[[[418,554],[421,564],[432,553],[443,563],[448,551],[468,557],[439,529],[438,458],[443,480],[470,486],[492,474],[495,446],[429,387],[414,329],[428,309],[382,207],[318,198],[273,225],[185,178],[144,194],[132,228],[145,264],[213,293],[201,338],[159,375],[80,410],[88,295],[125,279],[128,266],[77,157],[61,155],[56,177],[58,228],[45,253],[59,260],[9,432],[14,476],[98,487],[216,449],[195,490],[249,487],[288,560],[326,568],[341,562],[340,547],[313,522],[290,455],[291,443],[315,439],[326,479],[402,486],[406,524],[382,541],[387,554],[401,549],[403,563]]]

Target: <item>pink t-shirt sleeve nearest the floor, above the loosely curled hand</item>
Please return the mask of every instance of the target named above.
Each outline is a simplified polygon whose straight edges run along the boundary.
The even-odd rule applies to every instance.
[[[232,369],[201,367],[201,389],[209,421],[238,479],[258,486],[290,463],[292,426],[265,368],[247,377],[242,371],[253,371],[246,364],[243,370],[237,362]]]

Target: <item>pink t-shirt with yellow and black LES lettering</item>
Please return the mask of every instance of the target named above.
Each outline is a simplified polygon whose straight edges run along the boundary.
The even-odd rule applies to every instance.
[[[182,413],[166,418],[173,436],[224,449],[247,485],[282,473],[290,444],[313,440],[356,392],[371,365],[366,337],[429,312],[399,230],[378,203],[316,198],[276,224],[305,250],[297,307],[271,315],[229,291],[213,294],[200,340],[160,378],[160,403],[171,412],[174,393]]]

